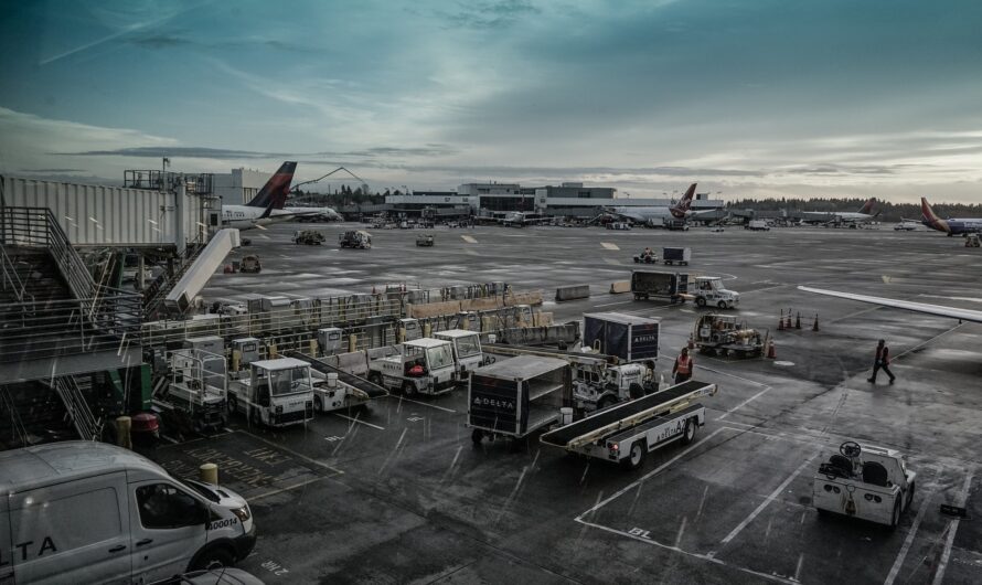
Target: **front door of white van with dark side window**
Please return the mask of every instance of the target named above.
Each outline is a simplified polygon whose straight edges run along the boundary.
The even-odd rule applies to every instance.
[[[170,481],[129,485],[134,581],[153,583],[188,571],[207,539],[209,509]]]

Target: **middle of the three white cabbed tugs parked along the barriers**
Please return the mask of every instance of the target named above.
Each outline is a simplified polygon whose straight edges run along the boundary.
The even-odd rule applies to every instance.
[[[449,341],[420,338],[396,345],[397,353],[369,361],[369,380],[406,396],[444,394],[457,385]]]

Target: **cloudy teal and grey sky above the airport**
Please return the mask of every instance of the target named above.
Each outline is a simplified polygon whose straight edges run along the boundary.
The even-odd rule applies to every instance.
[[[982,203],[980,30],[978,0],[3,0],[0,173]]]

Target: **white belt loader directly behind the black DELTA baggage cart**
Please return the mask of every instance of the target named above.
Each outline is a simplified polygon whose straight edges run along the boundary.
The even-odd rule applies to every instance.
[[[615,355],[564,351],[529,345],[489,344],[495,355],[541,355],[566,360],[569,363],[574,406],[580,411],[596,411],[611,404],[639,398],[658,391],[652,365],[654,360],[615,365]]]

